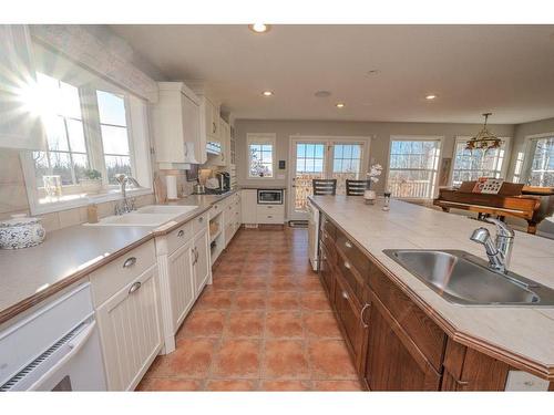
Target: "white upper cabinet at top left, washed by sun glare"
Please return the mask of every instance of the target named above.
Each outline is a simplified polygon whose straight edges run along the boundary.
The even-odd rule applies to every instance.
[[[29,28],[0,25],[0,147],[43,149],[41,94]]]

